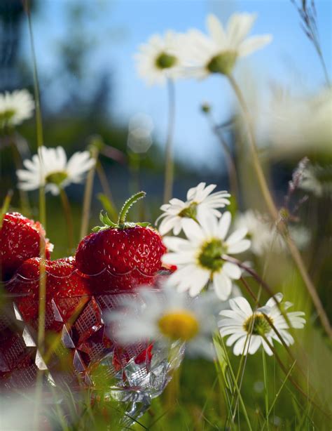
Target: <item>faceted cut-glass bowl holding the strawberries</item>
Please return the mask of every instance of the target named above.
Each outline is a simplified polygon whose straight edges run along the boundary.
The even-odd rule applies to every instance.
[[[117,276],[111,274],[111,277]],[[101,371],[104,373],[102,380],[111,382],[109,395],[119,402],[131,403],[125,425],[131,423],[130,418],[141,416],[181,364],[184,343],[175,341],[165,346],[156,340],[153,344],[146,341],[125,347],[118,345],[104,316],[122,305],[127,296],[135,297],[137,293],[109,291],[97,295],[46,298],[46,348],[41,354],[36,347],[38,321],[25,321],[22,296],[2,295],[2,390],[31,387],[39,371],[43,371],[46,387],[69,385],[72,390],[82,386],[98,389],[100,380],[96,375]],[[29,306],[38,307],[38,300],[25,296],[24,304],[26,311]],[[69,319],[64,319],[64,310],[68,309],[75,311]]]

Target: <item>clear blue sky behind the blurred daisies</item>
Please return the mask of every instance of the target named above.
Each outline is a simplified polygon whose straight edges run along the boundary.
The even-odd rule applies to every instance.
[[[66,10],[75,2],[43,0],[39,13],[34,16],[34,37],[41,73],[56,69],[57,41],[67,34]],[[137,112],[151,115],[155,136],[161,142],[165,139],[167,126],[166,89],[162,86],[147,87],[137,77],[132,56],[137,46],[153,33],[167,29],[184,32],[190,27],[205,31],[207,13],[216,13],[226,22],[235,11],[256,12],[258,19],[251,34],[273,35],[270,46],[240,60],[236,67],[238,79],[244,82],[243,77],[252,77],[254,87],[265,94],[264,98],[268,98],[272,82],[303,93],[324,85],[319,60],[300,29],[298,13],[290,0],[85,0],[83,3],[89,8],[89,13],[82,32],[88,32],[94,44],[85,73],[93,77],[99,69],[112,71],[115,86],[112,113],[116,120],[127,124]],[[331,70],[332,63],[331,5],[329,0],[316,1],[319,37],[328,70]],[[29,55],[27,37],[23,50],[25,55]],[[250,84],[249,90],[251,87]],[[48,95],[55,98],[55,103],[58,90],[55,86]],[[245,90],[248,93],[248,88]],[[211,164],[212,159],[219,163],[219,146],[199,107],[201,102],[207,101],[214,107],[216,117],[221,121],[228,118],[234,107],[234,98],[226,79],[211,77],[199,82],[179,81],[176,91],[174,142],[178,157],[200,166]]]

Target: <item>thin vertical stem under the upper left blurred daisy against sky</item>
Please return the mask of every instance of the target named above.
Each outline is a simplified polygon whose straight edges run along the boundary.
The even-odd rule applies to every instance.
[[[173,135],[175,121],[175,86],[172,79],[167,80],[168,91],[168,131],[165,148],[165,185],[164,203],[172,197],[174,182],[174,160],[173,160]]]

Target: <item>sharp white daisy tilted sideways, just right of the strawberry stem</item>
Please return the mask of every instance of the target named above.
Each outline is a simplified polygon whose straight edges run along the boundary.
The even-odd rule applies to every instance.
[[[227,199],[230,194],[224,190],[212,193],[215,188],[215,184],[200,183],[197,187],[188,190],[185,202],[173,198],[169,204],[160,206],[164,213],[155,222],[162,220],[158,227],[160,234],[165,235],[173,230],[174,235],[179,235],[184,220],[188,218],[200,221],[202,218],[207,218],[208,215],[221,217],[221,212],[217,208],[224,208],[230,204]]]

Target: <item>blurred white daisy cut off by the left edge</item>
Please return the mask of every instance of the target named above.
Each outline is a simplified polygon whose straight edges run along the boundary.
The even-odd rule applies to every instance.
[[[0,126],[17,126],[32,117],[34,99],[27,90],[0,93]]]

